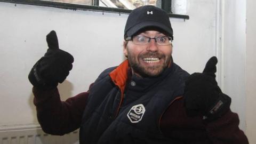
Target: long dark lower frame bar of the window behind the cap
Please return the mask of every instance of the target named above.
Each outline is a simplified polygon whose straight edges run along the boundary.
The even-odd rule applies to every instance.
[[[99,0],[92,0],[93,5],[80,5],[80,4],[70,4],[70,3],[60,3],[60,2],[50,2],[50,1],[33,1],[33,0],[0,0],[0,2],[14,3],[14,4],[29,4],[29,5],[38,5],[38,6],[49,6],[49,7],[57,7],[60,9],[70,9],[70,10],[85,10],[85,11],[100,11],[102,14],[105,12],[111,13],[123,13],[129,14],[132,10],[126,9],[118,9],[113,7],[102,7],[99,5]],[[182,14],[169,14],[170,18],[181,18],[189,19],[188,15]]]

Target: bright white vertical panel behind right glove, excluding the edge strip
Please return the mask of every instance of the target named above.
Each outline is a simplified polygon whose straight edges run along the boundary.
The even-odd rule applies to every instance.
[[[246,1],[222,1],[222,91],[232,98],[231,110],[245,130]]]

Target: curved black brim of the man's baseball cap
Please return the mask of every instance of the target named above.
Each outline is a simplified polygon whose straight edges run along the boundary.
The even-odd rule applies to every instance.
[[[172,29],[170,29],[169,27],[166,27],[162,23],[159,23],[159,22],[156,22],[156,21],[146,21],[146,22],[138,23],[137,25],[134,25],[132,28],[127,30],[126,36],[133,36],[134,34],[138,33],[139,30],[141,30],[143,28],[147,28],[147,27],[156,27],[156,28],[159,28],[161,30],[164,30],[170,36],[173,35]]]

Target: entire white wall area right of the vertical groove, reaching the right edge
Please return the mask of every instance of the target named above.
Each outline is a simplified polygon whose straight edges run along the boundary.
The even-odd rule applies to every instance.
[[[256,143],[256,1],[222,1],[222,90],[233,97],[250,143]]]

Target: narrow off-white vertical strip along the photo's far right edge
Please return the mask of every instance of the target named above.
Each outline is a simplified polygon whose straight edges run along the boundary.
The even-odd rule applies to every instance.
[[[246,134],[250,143],[256,143],[256,1],[246,1]]]

